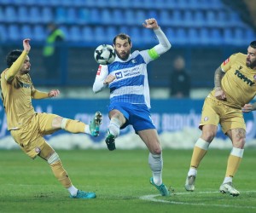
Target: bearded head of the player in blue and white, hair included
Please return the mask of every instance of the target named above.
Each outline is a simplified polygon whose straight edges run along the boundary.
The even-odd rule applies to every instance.
[[[131,46],[131,38],[125,33],[120,33],[113,38],[113,48],[121,60],[127,60],[129,58]]]

